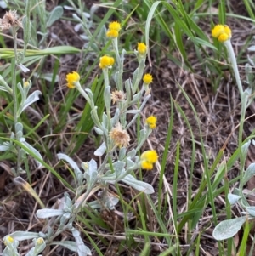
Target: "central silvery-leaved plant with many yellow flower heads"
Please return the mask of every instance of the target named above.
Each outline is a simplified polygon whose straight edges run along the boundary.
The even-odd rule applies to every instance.
[[[105,112],[102,120],[99,119],[97,106],[94,104],[94,94],[89,88],[82,88],[79,73],[72,71],[66,75],[67,87],[77,89],[91,107],[94,131],[102,138],[102,143],[94,152],[94,155],[102,157],[102,161],[98,163],[91,159],[88,162],[82,162],[81,168],[79,168],[77,162],[72,160],[71,157],[59,153],[59,161],[67,162],[74,171],[76,197],[71,199],[69,194],[65,193],[59,208],[43,208],[37,211],[37,218],[52,218],[47,232],[16,231],[5,236],[6,248],[3,255],[19,255],[14,254],[17,253],[17,241],[26,239],[33,239],[35,243],[33,253],[29,255],[37,255],[39,251],[42,251],[43,245],[56,244],[54,239],[64,230],[70,230],[75,241],[57,242],[58,245],[68,247],[80,256],[91,255],[90,249],[82,241],[80,232],[73,225],[77,218],[77,213],[80,213],[82,208],[86,207],[101,208],[103,206],[109,209],[115,208],[119,201],[118,198],[109,196],[106,191],[107,185],[114,185],[119,181],[146,194],[154,192],[150,184],[136,179],[133,176],[133,171],[139,168],[151,170],[158,160],[155,150],[144,151],[139,156],[139,151],[145,140],[148,139],[152,130],[156,128],[156,117],[150,116],[146,118],[144,128],[139,131],[139,139],[134,142],[136,146],[133,149],[128,148],[131,140],[128,128],[137,121],[144,105],[150,99],[150,83],[153,79],[150,74],[144,74],[147,47],[144,43],[138,43],[137,49],[134,50],[138,60],[138,68],[133,73],[133,79],[127,79],[127,81],[122,82],[126,51],[123,49],[122,54],[119,54],[118,36],[120,31],[121,24],[116,21],[111,22],[109,30],[106,32],[106,37],[111,40],[115,55],[104,55],[99,60],[99,68],[103,72],[105,86]],[[112,67],[114,67],[115,71],[113,76],[109,77],[109,71]],[[113,81],[111,85],[110,81]],[[139,88],[141,81],[143,81],[143,85]],[[133,108],[133,105],[137,105],[138,109]],[[114,111],[112,111],[113,108]],[[127,120],[127,114],[131,115],[130,120]],[[100,203],[97,201],[89,202],[88,206],[88,196],[96,186],[101,187],[102,198],[100,198]],[[54,230],[55,225],[58,225],[58,228]],[[38,242],[38,240],[40,241]],[[9,252],[13,254],[9,254]]]

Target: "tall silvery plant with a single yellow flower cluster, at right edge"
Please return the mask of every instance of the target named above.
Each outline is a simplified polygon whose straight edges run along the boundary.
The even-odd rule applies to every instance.
[[[212,37],[216,38],[218,42],[224,43],[224,46],[227,48],[227,52],[229,54],[229,61],[233,67],[233,71],[235,74],[235,82],[237,83],[240,97],[241,97],[241,119],[240,119],[240,126],[239,126],[239,158],[240,158],[240,183],[238,188],[234,188],[233,193],[229,193],[228,200],[230,205],[235,205],[238,203],[241,208],[243,209],[244,216],[234,218],[234,219],[226,219],[221,221],[213,230],[213,237],[217,240],[224,240],[228,239],[241,229],[242,225],[248,219],[255,218],[255,207],[250,206],[249,203],[246,201],[246,195],[243,192],[243,187],[246,185],[247,181],[252,178],[255,174],[255,163],[251,163],[245,169],[245,162],[246,156],[249,145],[254,145],[253,140],[249,139],[245,143],[242,141],[242,134],[243,134],[243,126],[245,121],[245,114],[247,107],[252,103],[254,100],[254,88],[252,88],[251,80],[247,79],[246,83],[248,83],[248,87],[244,90],[241,84],[241,78],[238,71],[235,53],[231,45],[231,30],[229,26],[226,25],[217,25],[214,26],[212,29]],[[254,48],[255,49],[255,48]],[[251,62],[252,63],[252,62]],[[254,65],[254,62],[253,62]],[[246,77],[249,77],[250,65],[246,65]],[[254,85],[253,85],[254,87]],[[252,193],[252,191],[251,191]]]

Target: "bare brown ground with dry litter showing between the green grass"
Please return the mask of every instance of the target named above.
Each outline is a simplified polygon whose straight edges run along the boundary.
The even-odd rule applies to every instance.
[[[93,1],[88,1],[93,3]],[[235,1],[233,1],[235,2]],[[236,2],[235,2],[236,3]],[[87,1],[86,1],[87,4]],[[245,8],[238,4],[229,4],[232,12],[235,14],[245,14]],[[48,6],[51,9],[52,6]],[[89,6],[88,6],[89,8]],[[217,20],[215,20],[217,21]],[[65,23],[65,32],[61,30]],[[251,24],[246,24],[246,22],[240,22],[233,19],[228,19],[228,25],[233,29],[233,40],[236,53],[241,50],[242,45],[246,43],[247,35],[251,35]],[[210,32],[209,24],[206,20],[201,20],[200,26],[204,31]],[[82,48],[82,41],[78,35],[73,30],[72,24],[66,24],[65,21],[58,21],[51,28],[52,31],[58,31],[58,36],[63,40],[67,41],[68,44],[73,45],[77,48]],[[253,29],[254,34],[254,29]],[[56,42],[57,44],[57,42]],[[151,45],[153,47],[153,45]],[[160,45],[161,47],[161,60],[159,65],[156,65],[156,60],[153,51],[151,51],[153,68],[149,68],[154,76],[153,86],[152,86],[152,98],[150,103],[146,105],[143,115],[148,116],[153,114],[158,118],[158,126],[156,131],[150,135],[150,141],[146,148],[152,147],[158,151],[159,155],[162,155],[164,151],[164,144],[167,135],[167,124],[169,123],[169,112],[170,112],[170,101],[169,93],[172,94],[173,99],[178,105],[183,109],[186,117],[188,117],[193,133],[195,134],[196,141],[200,141],[199,131],[197,122],[195,121],[194,113],[190,110],[190,106],[185,100],[184,95],[181,93],[177,86],[178,84],[184,88],[186,94],[189,95],[190,100],[195,106],[197,111],[200,126],[202,128],[202,137],[206,145],[206,150],[210,159],[214,159],[217,155],[219,149],[227,141],[229,135],[229,140],[224,151],[224,156],[226,159],[235,151],[237,147],[237,131],[235,127],[239,123],[240,117],[240,99],[238,95],[237,87],[235,86],[235,81],[233,81],[232,73],[229,69],[225,71],[225,79],[220,81],[219,87],[216,92],[212,90],[212,84],[210,79],[201,70],[201,65],[195,58],[194,49],[190,47],[189,60],[192,62],[195,73],[190,73],[190,71],[184,71],[184,69],[174,65],[167,58],[167,46]],[[173,53],[178,60],[181,60],[178,52]],[[244,53],[244,58],[246,53]],[[52,60],[48,60],[50,63]],[[64,61],[63,61],[64,63]],[[76,70],[77,63],[81,64],[81,56],[71,55],[66,56],[65,65],[61,65],[61,74],[65,74],[67,71]],[[46,66],[49,69],[51,65]],[[240,66],[242,80],[244,80],[244,66]],[[61,75],[60,74],[60,75]],[[59,85],[62,88],[62,85]],[[40,87],[40,84],[38,84]],[[53,97],[59,93],[59,87],[56,88]],[[78,105],[82,105],[82,101]],[[253,105],[250,110],[247,111],[246,117],[252,116],[254,114]],[[248,119],[245,125],[245,135],[251,133],[254,129],[254,117]],[[43,131],[41,131],[43,134]],[[132,133],[132,131],[131,131]],[[45,135],[45,134],[43,134]],[[167,156],[167,168],[166,177],[167,182],[171,186],[173,184],[173,169],[174,169],[174,152],[176,150],[177,141],[181,144],[181,162],[179,162],[178,171],[178,209],[183,211],[184,203],[186,202],[186,191],[188,185],[188,179],[190,178],[189,168],[190,168],[190,153],[191,153],[191,139],[190,132],[185,125],[183,119],[178,114],[178,111],[174,110],[174,126],[173,126],[173,138],[171,142],[171,147],[168,151]],[[195,194],[196,189],[200,184],[200,179],[202,175],[202,154],[200,151],[199,142],[197,143],[197,151],[195,155],[195,172],[193,178],[193,191]],[[89,156],[92,155],[94,151],[93,141],[88,139],[86,145],[82,147],[81,154],[77,155],[78,159],[88,160]],[[86,154],[82,152],[86,151]],[[53,155],[56,152],[53,152]],[[252,156],[252,151],[249,153],[250,161],[254,161],[254,156]],[[56,161],[56,159],[54,159]],[[34,165],[34,163],[31,163]],[[13,179],[8,174],[9,168],[12,166],[10,162],[1,162],[0,164],[0,200],[3,205],[0,208],[0,237],[3,237],[14,230],[42,230],[44,223],[37,219],[35,212],[37,210],[37,205],[35,200],[29,196],[25,191],[18,190],[16,185],[14,185]],[[69,174],[65,170],[61,170],[61,174],[66,179],[70,179]],[[229,173],[229,179],[233,178],[238,173],[238,163],[235,164],[233,170]],[[144,174],[144,179],[150,184],[154,185],[157,191],[157,180],[158,173],[157,170]],[[32,186],[36,191],[40,191],[42,201],[48,206],[52,206],[56,200],[63,195],[65,187],[57,182],[54,177],[45,173],[42,170],[37,171],[37,173],[32,173]],[[127,192],[128,194],[128,192]],[[222,195],[224,196],[224,195]],[[152,198],[156,196],[152,196]],[[218,205],[218,210],[224,208],[224,203],[218,198],[215,199]],[[207,208],[204,215],[199,222],[197,227],[198,231],[207,226],[207,230],[204,232],[201,238],[201,253],[203,255],[217,255],[217,247],[215,247],[215,241],[212,239],[213,226],[210,220],[212,215],[210,208]],[[167,218],[168,216],[166,216]],[[107,218],[107,216],[106,216]],[[224,216],[223,216],[224,219]],[[203,226],[202,226],[203,225]],[[99,230],[99,227],[97,227]],[[169,228],[169,231],[171,228]],[[64,234],[68,236],[68,234]],[[64,237],[62,236],[62,238]],[[65,236],[65,237],[66,237]],[[185,245],[185,239],[181,240],[183,246]],[[117,247],[118,242],[113,240],[112,247]],[[0,246],[0,253],[3,247]],[[27,244],[22,247],[22,252],[27,251]],[[113,252],[108,251],[105,255],[112,255]],[[154,247],[154,251],[151,255],[158,255],[158,247]],[[44,254],[44,255],[49,255]],[[73,255],[70,252],[66,252],[61,248],[57,248],[51,255]],[[93,255],[97,255],[95,252]],[[123,252],[121,255],[138,255],[134,252]]]

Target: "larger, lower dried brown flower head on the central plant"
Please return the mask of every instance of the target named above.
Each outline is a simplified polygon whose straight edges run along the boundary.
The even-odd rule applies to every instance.
[[[116,124],[115,128],[111,129],[109,135],[116,146],[127,147],[127,145],[129,145],[129,134],[127,134],[126,130],[122,129],[122,125],[120,124],[120,122]]]

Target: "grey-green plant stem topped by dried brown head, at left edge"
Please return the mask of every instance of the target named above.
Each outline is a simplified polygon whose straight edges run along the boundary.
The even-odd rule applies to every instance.
[[[26,25],[26,23],[25,23]],[[8,82],[3,79],[0,75],[0,90],[3,92],[10,94],[13,99],[13,107],[11,109],[11,115],[14,119],[14,131],[11,132],[10,140],[3,142],[0,144],[0,151],[8,151],[12,152],[15,156],[17,156],[17,165],[16,168],[12,168],[12,173],[15,177],[19,176],[20,174],[24,173],[24,170],[21,168],[21,164],[26,159],[27,150],[32,151],[36,154],[40,159],[42,156],[40,153],[32,147],[29,143],[26,142],[25,136],[23,134],[23,124],[21,120],[21,113],[26,110],[26,108],[31,105],[32,103],[39,100],[39,95],[41,94],[40,91],[36,90],[33,93],[29,94],[31,89],[31,81],[25,81],[23,79],[22,82],[18,82],[16,84],[16,70],[20,68],[21,71],[26,72],[29,69],[26,68],[25,65],[22,65],[21,61],[24,58],[24,54],[26,52],[26,47],[24,46],[24,53],[19,52],[17,49],[17,31],[19,29],[24,29],[24,37],[27,37],[27,34],[30,34],[30,26],[22,25],[21,20],[15,10],[8,11],[4,16],[3,19],[0,19],[0,29],[1,31],[9,30],[12,33],[13,40],[14,40],[14,59],[11,70],[11,77],[12,77],[12,84],[9,86]],[[29,36],[28,36],[29,37]],[[21,97],[18,97],[18,94]],[[12,139],[16,139],[20,142],[21,145],[25,148],[21,148],[20,145],[15,145]],[[41,163],[37,162],[38,167],[41,167]],[[21,178],[20,178],[21,179]]]

